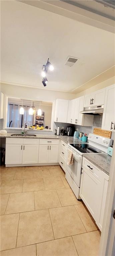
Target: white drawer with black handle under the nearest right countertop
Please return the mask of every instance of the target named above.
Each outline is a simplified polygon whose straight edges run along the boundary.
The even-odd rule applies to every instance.
[[[89,160],[87,160],[85,157],[83,157],[83,167],[85,167],[90,173],[93,174],[95,178],[97,178],[99,181],[102,178],[102,171],[95,167],[94,164],[92,164]]]

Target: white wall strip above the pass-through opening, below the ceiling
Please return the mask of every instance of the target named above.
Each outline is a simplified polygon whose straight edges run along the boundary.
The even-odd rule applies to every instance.
[[[4,94],[7,94],[8,96],[35,99],[35,100],[44,100],[44,101],[45,100],[53,101],[56,99],[71,100],[76,98],[76,94],[73,94],[73,93],[49,91],[47,89],[42,90],[42,89],[2,84],[2,83],[1,83],[1,92],[3,92]]]

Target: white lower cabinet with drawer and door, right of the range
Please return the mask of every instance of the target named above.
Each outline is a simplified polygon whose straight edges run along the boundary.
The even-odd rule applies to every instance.
[[[109,176],[83,157],[80,197],[102,230]]]

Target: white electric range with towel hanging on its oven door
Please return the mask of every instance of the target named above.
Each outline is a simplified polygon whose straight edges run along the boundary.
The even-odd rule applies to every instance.
[[[112,143],[113,140],[111,139],[90,133],[87,143],[81,141],[81,144],[68,144],[67,150],[72,151],[74,160],[73,165],[66,164],[65,177],[77,199],[79,199],[83,155],[87,153],[107,153],[107,149]]]

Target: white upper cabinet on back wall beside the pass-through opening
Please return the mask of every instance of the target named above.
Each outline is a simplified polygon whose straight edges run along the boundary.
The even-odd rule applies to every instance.
[[[56,100],[54,122],[67,123],[68,104],[69,100]]]

